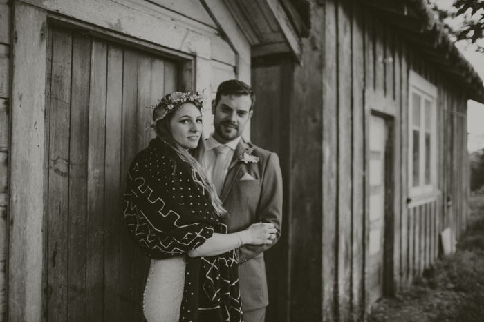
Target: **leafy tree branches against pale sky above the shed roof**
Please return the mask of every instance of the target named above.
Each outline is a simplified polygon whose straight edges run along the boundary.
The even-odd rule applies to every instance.
[[[428,1],[456,41],[466,41],[475,45],[478,52],[484,52],[483,0],[454,0],[452,8],[442,8],[438,0]]]

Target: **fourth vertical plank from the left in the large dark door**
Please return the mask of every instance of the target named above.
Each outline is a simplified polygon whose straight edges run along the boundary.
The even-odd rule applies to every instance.
[[[104,166],[104,320],[120,321],[120,225],[122,219],[121,138],[122,59],[120,46],[108,44],[106,162]]]

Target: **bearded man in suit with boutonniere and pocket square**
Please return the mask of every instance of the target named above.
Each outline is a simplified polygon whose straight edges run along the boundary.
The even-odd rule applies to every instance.
[[[205,168],[229,217],[229,232],[252,223],[274,223],[272,245],[281,236],[282,177],[277,154],[245,142],[241,134],[254,114],[255,94],[242,81],[218,86],[212,102],[215,131],[206,141]],[[245,322],[263,322],[268,305],[263,252],[272,245],[239,248],[239,283]]]

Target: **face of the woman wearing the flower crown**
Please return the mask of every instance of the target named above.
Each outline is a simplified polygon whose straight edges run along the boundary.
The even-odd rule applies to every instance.
[[[192,103],[184,103],[169,121],[171,135],[184,149],[194,149],[202,133],[202,115]]]

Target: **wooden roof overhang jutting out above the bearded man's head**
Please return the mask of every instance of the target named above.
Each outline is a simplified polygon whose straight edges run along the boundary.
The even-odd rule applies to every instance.
[[[223,0],[251,46],[252,57],[291,54],[301,61],[305,28],[289,0]]]

